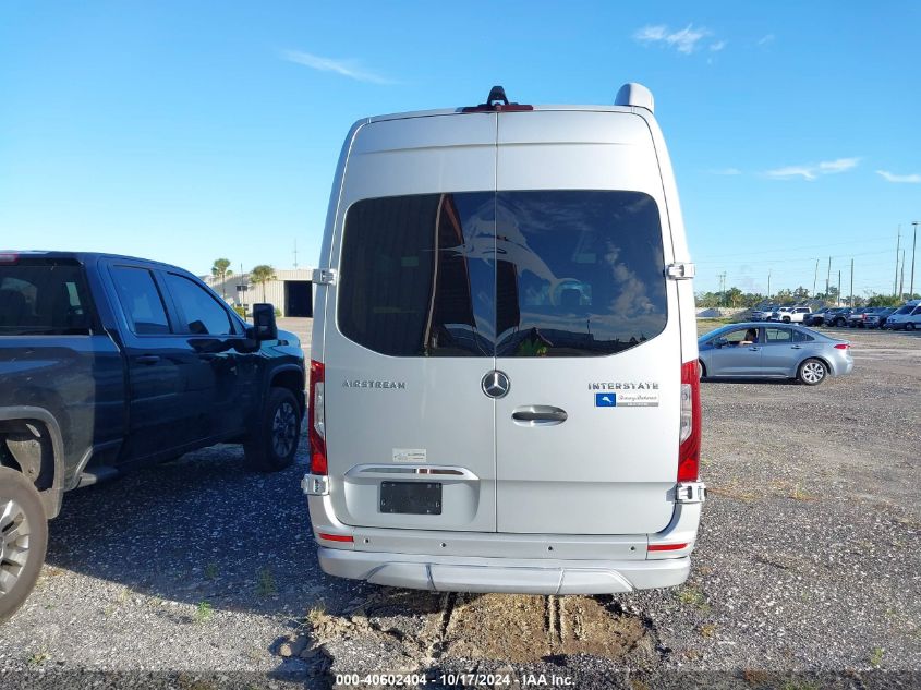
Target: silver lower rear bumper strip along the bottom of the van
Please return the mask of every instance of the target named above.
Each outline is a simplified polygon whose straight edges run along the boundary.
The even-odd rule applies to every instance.
[[[373,584],[436,592],[613,594],[675,586],[691,559],[547,560],[353,552],[319,547],[327,574]]]

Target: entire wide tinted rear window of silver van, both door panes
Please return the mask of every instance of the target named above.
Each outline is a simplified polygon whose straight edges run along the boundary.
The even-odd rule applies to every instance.
[[[340,331],[395,356],[591,356],[667,319],[662,227],[649,195],[425,194],[349,209]]]

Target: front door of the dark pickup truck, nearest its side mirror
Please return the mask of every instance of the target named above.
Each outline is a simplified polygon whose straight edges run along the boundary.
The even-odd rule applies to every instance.
[[[172,298],[178,350],[184,353],[190,394],[197,400],[197,414],[205,425],[201,438],[226,437],[244,431],[251,411],[257,409],[258,353],[247,344],[229,307],[210,290],[178,273],[162,271]]]

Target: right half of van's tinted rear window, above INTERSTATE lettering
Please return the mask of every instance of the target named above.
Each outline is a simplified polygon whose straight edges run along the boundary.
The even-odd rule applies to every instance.
[[[619,352],[665,328],[662,226],[638,192],[499,192],[498,356]],[[499,278],[501,282],[501,278]]]

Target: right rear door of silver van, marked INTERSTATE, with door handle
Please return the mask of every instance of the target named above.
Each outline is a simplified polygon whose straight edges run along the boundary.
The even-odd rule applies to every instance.
[[[653,138],[627,112],[498,116],[497,530],[664,529],[681,349]]]

